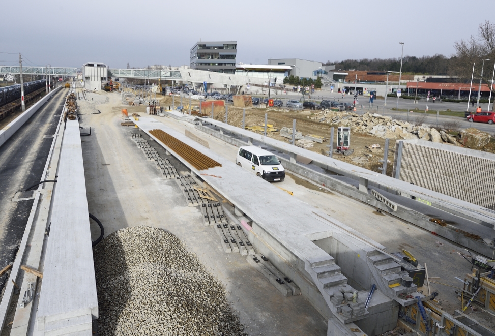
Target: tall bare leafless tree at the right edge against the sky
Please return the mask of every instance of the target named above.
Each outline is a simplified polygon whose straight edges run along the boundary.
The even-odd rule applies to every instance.
[[[481,78],[482,83],[491,88],[492,98],[495,97],[495,90],[491,86],[493,64],[495,63],[495,23],[486,20],[478,25],[478,36],[473,35],[468,41],[460,40],[454,43],[456,53],[452,55],[451,70],[454,74],[462,78],[471,78],[473,63],[475,63],[475,77]],[[483,59],[485,62],[483,76],[481,70]],[[495,111],[495,105],[492,111]]]

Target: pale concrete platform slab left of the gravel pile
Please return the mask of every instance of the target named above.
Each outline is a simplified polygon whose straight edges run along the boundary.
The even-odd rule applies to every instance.
[[[98,300],[81,138],[79,121],[67,120],[36,321],[39,331],[91,334],[89,317]]]

